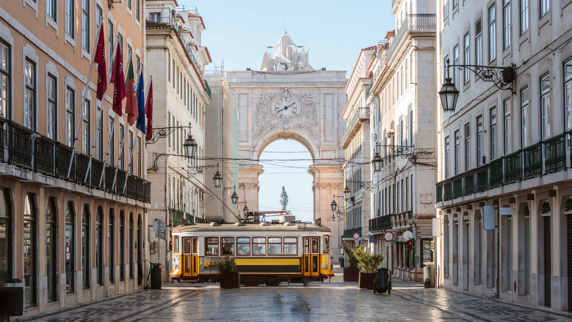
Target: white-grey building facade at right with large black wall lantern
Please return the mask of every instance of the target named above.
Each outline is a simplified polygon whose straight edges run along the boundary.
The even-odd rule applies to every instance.
[[[511,90],[450,69],[459,99],[436,120],[439,284],[570,311],[572,6],[450,0],[438,9],[439,83],[447,59],[516,68]],[[484,205],[514,212],[497,214],[496,229],[484,230]]]

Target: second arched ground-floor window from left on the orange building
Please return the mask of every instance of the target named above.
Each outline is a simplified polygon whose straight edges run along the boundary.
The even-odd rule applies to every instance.
[[[34,194],[26,194],[24,205],[23,257],[26,307],[36,306],[36,207]]]

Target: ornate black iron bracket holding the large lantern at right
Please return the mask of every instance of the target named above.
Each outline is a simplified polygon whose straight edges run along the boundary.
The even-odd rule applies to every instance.
[[[450,65],[447,60],[447,73],[450,67],[456,67],[459,70],[466,68],[475,73],[483,81],[492,81],[496,88],[511,91],[514,90],[514,79],[517,77],[517,65],[510,64],[509,67],[483,66],[483,65]]]

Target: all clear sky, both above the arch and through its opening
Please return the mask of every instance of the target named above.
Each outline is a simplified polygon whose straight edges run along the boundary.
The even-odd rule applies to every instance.
[[[378,44],[395,29],[390,0],[368,1],[236,1],[178,0],[179,5],[197,6],[206,29],[202,46],[207,46],[213,70],[224,59],[225,70],[259,69],[262,54],[276,43],[284,30],[297,46],[309,49],[313,68],[347,70],[351,73],[360,49]],[[306,148],[293,140],[270,144],[261,159],[311,159]],[[281,153],[282,152],[282,153]],[[289,153],[283,153],[289,152]],[[311,161],[261,163],[259,210],[280,209],[281,186],[289,195],[288,210],[296,219],[311,221],[313,214]],[[328,206],[329,207],[329,206]]]

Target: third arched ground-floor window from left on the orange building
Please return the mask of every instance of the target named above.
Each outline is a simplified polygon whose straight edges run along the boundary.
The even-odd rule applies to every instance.
[[[47,209],[46,209],[46,275],[47,275],[47,301],[54,302],[57,301],[57,289],[58,289],[58,257],[56,256],[56,249],[58,246],[58,238],[56,234],[55,227],[58,226],[58,217],[55,208],[55,198],[50,197],[47,199]],[[0,227],[2,227],[2,213],[0,212]],[[0,244],[5,244],[1,242]],[[1,262],[0,256],[0,262]],[[0,266],[1,269],[2,266]]]

